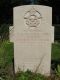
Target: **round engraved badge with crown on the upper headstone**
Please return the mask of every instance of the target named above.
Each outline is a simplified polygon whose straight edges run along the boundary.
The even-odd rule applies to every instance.
[[[30,27],[36,27],[40,24],[40,19],[42,18],[41,13],[35,10],[34,7],[25,13],[24,19],[26,19],[26,24]]]

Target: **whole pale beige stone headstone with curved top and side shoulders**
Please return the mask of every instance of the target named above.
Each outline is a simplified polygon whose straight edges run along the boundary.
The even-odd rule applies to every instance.
[[[54,42],[52,8],[42,5],[15,7],[12,28],[10,41],[14,42],[15,72],[20,68],[49,75]]]

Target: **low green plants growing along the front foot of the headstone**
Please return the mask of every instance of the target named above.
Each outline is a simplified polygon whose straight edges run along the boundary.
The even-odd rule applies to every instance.
[[[39,73],[33,73],[29,70],[16,73],[16,80],[47,80],[47,78]]]

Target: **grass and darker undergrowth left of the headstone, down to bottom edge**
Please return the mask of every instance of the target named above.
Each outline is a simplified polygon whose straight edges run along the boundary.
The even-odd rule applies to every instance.
[[[13,43],[3,41],[0,45],[0,78],[13,80]]]

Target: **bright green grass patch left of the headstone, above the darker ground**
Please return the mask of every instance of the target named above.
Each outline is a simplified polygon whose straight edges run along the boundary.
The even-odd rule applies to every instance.
[[[12,64],[13,53],[13,43],[9,41],[2,42],[0,45],[0,63],[5,65]]]

